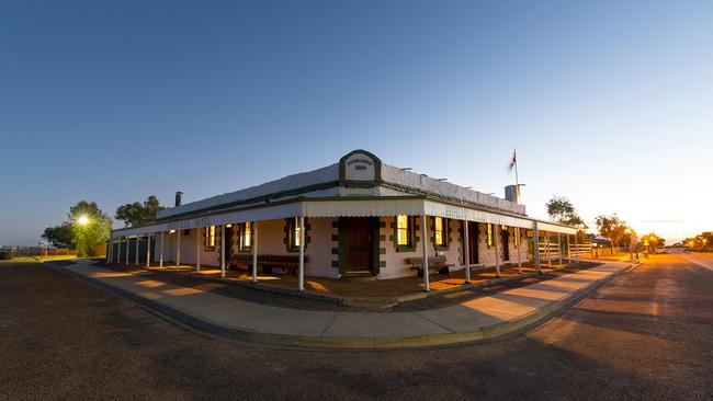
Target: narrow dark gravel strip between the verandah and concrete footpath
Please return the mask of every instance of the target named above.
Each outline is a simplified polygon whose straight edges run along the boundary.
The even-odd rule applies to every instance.
[[[327,310],[327,311],[364,310],[362,308],[348,307],[335,302],[329,302],[326,300],[299,297],[297,295],[270,293],[261,289],[252,289],[240,285],[215,283],[212,280],[202,279],[201,276],[199,275],[177,274],[171,272],[155,273],[155,271],[147,272],[143,268],[136,268],[132,266],[127,266],[127,267],[105,266],[103,261],[98,261],[93,264],[95,266],[110,268],[116,272],[140,274],[142,277],[150,278],[157,282],[162,282],[162,283],[168,283],[168,284],[173,284],[173,285],[179,285],[184,287],[200,288],[202,290],[211,291],[214,294],[219,294],[233,298],[238,298],[238,299],[242,299],[251,302],[258,302],[262,305],[270,305],[280,308],[291,308],[291,309],[302,309],[302,310]],[[581,262],[577,267],[569,267],[562,271],[539,275],[536,277],[512,279],[497,285],[491,285],[486,287],[475,287],[475,288],[464,289],[457,293],[448,293],[448,294],[432,293],[432,295],[427,298],[416,299],[404,303],[399,303],[394,308],[375,309],[375,310],[370,309],[370,311],[404,312],[404,311],[419,311],[419,310],[444,308],[455,303],[468,301],[475,298],[485,297],[511,288],[527,286],[533,283],[544,282],[547,279],[552,279],[555,277],[559,277],[566,274],[571,274],[575,272],[579,272],[581,270],[587,270],[599,265],[600,263]]]

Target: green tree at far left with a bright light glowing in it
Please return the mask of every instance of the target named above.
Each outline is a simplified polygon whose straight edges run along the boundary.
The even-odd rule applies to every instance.
[[[77,250],[77,255],[93,256],[97,245],[109,238],[112,220],[95,203],[87,200],[70,207],[67,217],[71,224],[71,243]]]

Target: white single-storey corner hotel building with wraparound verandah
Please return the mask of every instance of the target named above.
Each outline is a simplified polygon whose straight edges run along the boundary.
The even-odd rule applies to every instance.
[[[451,272],[528,261],[539,267],[533,243],[576,230],[530,218],[517,200],[514,185],[499,198],[354,150],[326,168],[203,200],[181,205],[178,193],[177,206],[155,222],[113,230],[107,257],[124,262],[148,240],[142,263],[237,265],[253,275],[288,267],[299,289],[305,275],[388,279],[417,275],[423,270],[415,263],[423,261],[443,267],[443,259]],[[138,264],[139,252],[132,253]]]

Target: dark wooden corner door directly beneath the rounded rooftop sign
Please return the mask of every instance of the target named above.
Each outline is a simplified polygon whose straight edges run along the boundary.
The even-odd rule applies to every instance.
[[[372,219],[342,217],[339,219],[339,226],[343,238],[346,273],[373,272],[374,226]]]

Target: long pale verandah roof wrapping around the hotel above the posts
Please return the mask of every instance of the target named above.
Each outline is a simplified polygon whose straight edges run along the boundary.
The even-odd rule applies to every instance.
[[[574,234],[576,229],[535,219],[482,210],[449,204],[422,196],[395,197],[350,197],[350,198],[298,198],[281,204],[259,205],[215,215],[195,216],[174,221],[158,222],[144,227],[112,231],[112,237],[146,234],[168,230],[220,226],[245,221],[262,221],[295,216],[304,217],[376,217],[376,216],[438,216],[457,220],[468,220],[534,229],[535,222],[541,231]]]

